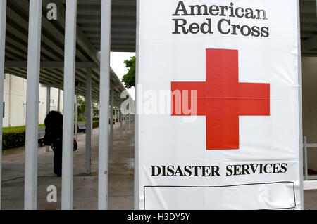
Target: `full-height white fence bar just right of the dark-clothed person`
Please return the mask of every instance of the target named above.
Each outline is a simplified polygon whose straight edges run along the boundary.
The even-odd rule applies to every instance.
[[[77,0],[66,1],[61,209],[73,209],[73,135]]]

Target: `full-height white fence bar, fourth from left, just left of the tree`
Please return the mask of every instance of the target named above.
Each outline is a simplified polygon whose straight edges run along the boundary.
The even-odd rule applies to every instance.
[[[98,209],[108,209],[108,122],[110,88],[111,0],[101,0],[100,128]]]

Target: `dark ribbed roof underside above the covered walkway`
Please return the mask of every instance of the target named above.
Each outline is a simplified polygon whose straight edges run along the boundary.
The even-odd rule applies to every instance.
[[[63,88],[65,1],[43,0],[41,84]],[[58,19],[46,19],[46,5],[55,3]],[[99,99],[101,0],[77,0],[76,93],[85,95],[86,67],[92,68],[92,97]],[[316,0],[300,0],[302,55],[317,56]],[[6,71],[26,78],[28,0],[9,0],[6,24]],[[294,15],[295,16],[295,15]],[[281,27],[282,29],[282,27]],[[135,52],[136,0],[112,0],[111,51]],[[111,70],[116,103],[125,88]]]

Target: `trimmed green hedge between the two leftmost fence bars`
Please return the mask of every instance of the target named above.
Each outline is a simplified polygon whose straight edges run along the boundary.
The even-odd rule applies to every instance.
[[[8,150],[25,145],[25,129],[5,131],[2,134],[2,149]]]

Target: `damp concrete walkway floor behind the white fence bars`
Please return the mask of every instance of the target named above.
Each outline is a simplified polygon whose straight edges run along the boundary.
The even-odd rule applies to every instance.
[[[127,125],[128,126],[128,125]],[[133,209],[134,131],[114,128],[113,150],[109,154],[109,209]],[[85,174],[85,134],[78,136],[78,150],[74,152],[73,209],[97,209],[98,195],[98,138],[99,129],[92,135],[92,173]],[[1,208],[23,209],[24,206],[25,147],[3,153]],[[61,209],[61,178],[53,173],[53,152],[38,152],[37,208]],[[46,188],[56,185],[57,203],[48,203]]]

